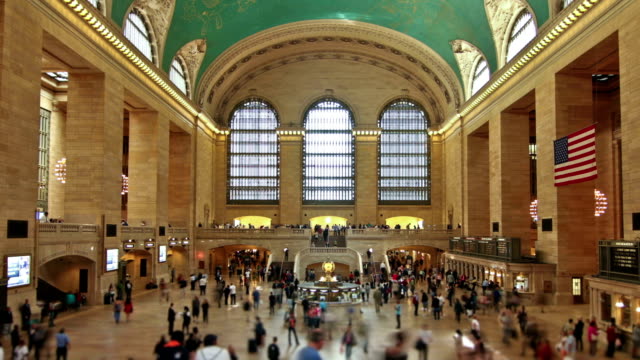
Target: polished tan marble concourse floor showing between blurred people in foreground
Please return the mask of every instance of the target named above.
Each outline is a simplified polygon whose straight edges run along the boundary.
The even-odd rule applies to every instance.
[[[270,284],[257,284],[258,287]],[[191,299],[197,291],[186,292],[183,297],[178,290],[171,291],[172,301],[175,309],[182,309],[183,306],[191,307]],[[268,291],[262,291],[262,299],[267,298]],[[213,304],[213,294],[208,291],[207,298]],[[240,304],[240,301],[238,301]],[[134,311],[129,322],[122,321],[115,324],[113,320],[112,306],[93,306],[76,313],[69,313],[60,316],[56,322],[54,331],[64,327],[71,339],[69,359],[154,359],[153,347],[162,334],[167,332],[168,304],[161,302],[158,290],[148,290],[134,295]],[[410,333],[415,333],[423,323],[429,324],[434,333],[434,343],[430,347],[429,358],[432,360],[455,359],[453,347],[453,333],[460,328],[468,333],[469,322],[463,319],[461,324],[454,320],[450,308],[445,309],[445,316],[442,320],[433,320],[430,314],[420,312],[419,316],[414,316],[412,306],[409,302],[403,302],[402,329]],[[363,304],[361,314],[355,320],[356,324],[366,324],[369,328],[369,354],[364,354],[362,345],[363,339],[358,339],[358,346],[354,349],[351,359],[382,359],[381,352],[390,341],[390,334],[395,331],[395,313],[393,305],[387,304],[382,307],[379,314],[376,314],[373,304]],[[334,337],[332,341],[327,341],[322,349],[325,360],[344,359],[344,354],[340,353],[339,339],[347,324],[347,313],[344,308],[330,309],[332,316],[336,319]],[[357,312],[356,312],[357,313]],[[558,342],[560,338],[560,328],[569,317],[574,319],[578,316],[588,315],[586,305],[545,307],[544,312],[539,307],[528,309],[530,317],[534,317],[546,328],[552,344]],[[267,330],[268,342],[273,336],[278,336],[278,344],[283,356],[282,359],[293,359],[295,351],[306,343],[306,331],[302,322],[298,323],[298,335],[300,337],[300,347],[290,347],[287,342],[287,331],[283,327],[285,307],[276,311],[275,315],[269,315],[268,305],[261,305],[257,311],[247,313],[242,306],[212,306],[209,314],[209,323],[192,323],[198,326],[201,334],[213,333],[218,336],[218,344],[222,346],[233,345],[239,359],[266,359],[266,346],[260,349],[258,354],[248,354],[247,339],[253,334],[254,317],[256,315],[263,319]],[[298,314],[301,315],[298,309]],[[123,314],[124,315],[124,314]],[[301,317],[301,316],[300,316]],[[123,316],[124,319],[124,316]],[[250,319],[248,321],[248,319]],[[526,357],[521,357],[520,343],[514,342],[510,347],[500,342],[501,334],[494,312],[486,315],[479,314],[482,332],[486,338],[486,343],[495,349],[495,360],[500,359],[531,359],[531,352]],[[181,326],[181,319],[176,321],[176,328]],[[5,349],[7,349],[8,339],[3,339]],[[418,359],[417,351],[413,349],[413,340],[408,342],[409,359]],[[5,352],[6,352],[5,350]],[[589,357],[579,353],[576,359],[604,359],[604,344],[600,344],[598,356]],[[7,357],[8,359],[9,357]],[[46,357],[45,357],[46,358]],[[616,359],[630,359],[627,353],[617,353]]]

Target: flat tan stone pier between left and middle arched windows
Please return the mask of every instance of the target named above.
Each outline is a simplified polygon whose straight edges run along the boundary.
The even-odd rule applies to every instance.
[[[302,214],[302,129],[281,132],[280,139],[280,218],[282,224],[304,224]]]

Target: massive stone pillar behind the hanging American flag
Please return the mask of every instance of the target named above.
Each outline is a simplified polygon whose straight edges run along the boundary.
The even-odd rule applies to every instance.
[[[538,139],[558,139],[593,123],[591,83],[590,75],[571,74],[542,82],[536,93],[548,95],[536,96]],[[538,214],[553,220],[553,231],[539,228],[536,252],[543,262],[556,264],[556,303],[571,304],[571,277],[598,268],[594,181],[554,186],[553,141],[538,142],[537,166]]]

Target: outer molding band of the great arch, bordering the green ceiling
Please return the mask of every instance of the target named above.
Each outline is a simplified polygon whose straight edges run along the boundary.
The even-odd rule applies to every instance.
[[[361,49],[381,52],[380,57],[403,59],[414,64],[414,76],[431,78],[443,93],[447,112],[454,112],[462,101],[462,91],[455,71],[420,41],[406,34],[358,21],[311,20],[277,26],[240,41],[219,55],[204,71],[195,97],[201,106],[213,103],[221,85],[233,72],[256,57],[299,44],[340,42]],[[224,90],[221,91],[224,93]]]

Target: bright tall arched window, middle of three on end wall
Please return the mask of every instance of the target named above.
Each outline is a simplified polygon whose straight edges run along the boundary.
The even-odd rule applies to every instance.
[[[305,115],[303,202],[353,204],[353,115],[335,100],[313,104]]]

